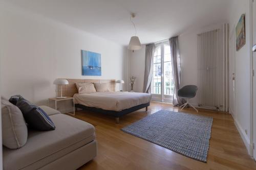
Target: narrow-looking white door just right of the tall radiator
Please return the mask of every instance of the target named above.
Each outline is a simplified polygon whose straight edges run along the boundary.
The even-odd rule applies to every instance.
[[[235,62],[236,62],[236,46],[235,46],[235,34],[234,27],[230,29],[229,38],[229,113],[232,114],[233,118],[236,118],[235,111]]]

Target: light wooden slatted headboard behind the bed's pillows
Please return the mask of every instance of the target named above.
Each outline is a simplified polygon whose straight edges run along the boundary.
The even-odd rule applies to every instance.
[[[109,90],[115,91],[116,80],[97,80],[97,79],[66,79],[69,84],[62,86],[62,95],[67,97],[73,97],[75,93],[78,93],[76,83],[106,83],[109,85]],[[57,86],[57,95],[60,96],[60,86]]]

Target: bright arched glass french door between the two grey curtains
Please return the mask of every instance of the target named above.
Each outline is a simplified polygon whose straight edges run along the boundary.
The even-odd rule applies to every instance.
[[[152,100],[172,103],[174,83],[170,45],[168,41],[156,45],[153,62],[154,68],[151,82]]]

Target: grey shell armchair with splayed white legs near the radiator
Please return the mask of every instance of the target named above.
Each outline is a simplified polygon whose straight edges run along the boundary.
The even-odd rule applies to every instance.
[[[180,88],[178,90],[178,96],[180,98],[183,98],[185,100],[187,100],[187,102],[183,105],[181,105],[180,107],[182,107],[182,109],[185,107],[185,106],[191,106],[193,107],[197,112],[198,110],[193,106],[191,105],[189,102],[188,102],[188,99],[191,99],[191,98],[195,98],[196,94],[197,94],[197,89],[198,87],[196,85],[187,85],[187,86],[184,86],[182,88]],[[181,110],[182,110],[181,109]]]

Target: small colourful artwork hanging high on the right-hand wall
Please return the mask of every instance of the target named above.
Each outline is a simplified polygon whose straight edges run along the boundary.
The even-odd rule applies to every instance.
[[[237,51],[245,45],[245,14],[242,14],[236,27]]]

